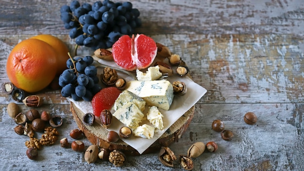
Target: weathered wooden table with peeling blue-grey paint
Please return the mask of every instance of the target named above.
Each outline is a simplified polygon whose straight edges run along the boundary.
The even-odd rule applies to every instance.
[[[75,45],[60,20],[60,7],[71,0],[0,1],[0,83],[9,81],[6,59],[20,41],[36,34],[53,34],[69,48]],[[216,153],[194,159],[201,170],[304,170],[304,2],[302,0],[140,0],[143,25],[137,33],[152,36],[182,56],[193,80],[207,89],[195,105],[186,133],[169,147],[186,154],[197,141],[215,141]],[[87,2],[93,3],[93,0]],[[83,53],[90,53],[86,49]],[[60,138],[77,128],[69,102],[60,91],[45,90],[40,111],[64,119]],[[37,161],[25,154],[26,136],[14,132],[6,112],[15,102],[0,90],[0,170],[172,170],[155,154],[130,156],[116,168],[107,161],[87,164],[83,153],[55,145],[43,147]],[[29,108],[18,103],[24,111]],[[247,125],[246,112],[258,120]],[[211,129],[220,119],[234,132],[224,141]],[[91,145],[85,138],[86,146]],[[183,170],[176,162],[174,170]]]

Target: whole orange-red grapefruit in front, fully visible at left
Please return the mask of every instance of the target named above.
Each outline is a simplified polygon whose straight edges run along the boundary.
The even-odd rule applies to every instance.
[[[48,86],[56,71],[56,52],[51,45],[38,39],[18,43],[6,63],[10,81],[27,92],[37,92]]]

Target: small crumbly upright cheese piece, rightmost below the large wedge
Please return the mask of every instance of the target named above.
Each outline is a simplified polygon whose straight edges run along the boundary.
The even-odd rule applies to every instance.
[[[147,114],[147,120],[159,130],[164,129],[163,115],[159,112],[156,106],[150,106]]]

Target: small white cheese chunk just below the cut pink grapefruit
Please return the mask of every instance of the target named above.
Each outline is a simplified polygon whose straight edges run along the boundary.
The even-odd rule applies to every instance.
[[[146,73],[140,71],[139,69],[136,69],[136,78],[138,81],[157,80],[161,76],[162,73],[159,71],[159,66],[149,67]]]

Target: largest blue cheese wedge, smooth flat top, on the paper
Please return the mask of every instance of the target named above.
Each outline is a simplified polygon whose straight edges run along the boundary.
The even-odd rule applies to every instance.
[[[173,86],[167,80],[127,82],[126,90],[146,101],[149,106],[169,110],[173,101]]]

